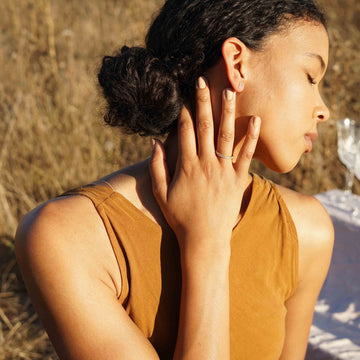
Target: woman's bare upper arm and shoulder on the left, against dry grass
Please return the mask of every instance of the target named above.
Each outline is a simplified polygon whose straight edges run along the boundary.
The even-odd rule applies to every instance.
[[[119,304],[109,246],[92,203],[80,196],[48,203],[19,226],[18,263],[60,359],[158,359]]]

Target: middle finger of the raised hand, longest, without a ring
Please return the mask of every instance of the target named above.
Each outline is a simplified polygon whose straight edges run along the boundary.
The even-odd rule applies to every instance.
[[[214,124],[210,91],[204,77],[200,77],[196,88],[196,134],[199,157],[214,154]]]

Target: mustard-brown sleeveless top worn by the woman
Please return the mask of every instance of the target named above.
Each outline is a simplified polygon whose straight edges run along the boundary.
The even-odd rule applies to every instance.
[[[88,185],[64,195],[92,200],[119,265],[121,304],[160,359],[175,347],[181,268],[173,233],[107,186]],[[234,228],[230,259],[232,360],[275,360],[285,338],[285,301],[297,284],[298,243],[290,213],[271,181],[253,175],[248,208]]]

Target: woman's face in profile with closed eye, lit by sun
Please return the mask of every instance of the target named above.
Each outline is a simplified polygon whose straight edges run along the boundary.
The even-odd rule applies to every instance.
[[[311,151],[317,124],[329,117],[320,93],[329,40],[322,25],[297,22],[250,52],[244,91],[237,97],[239,118],[262,118],[255,157],[270,169],[288,172]]]

